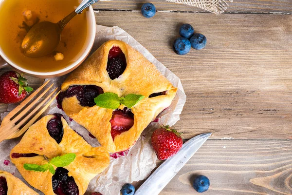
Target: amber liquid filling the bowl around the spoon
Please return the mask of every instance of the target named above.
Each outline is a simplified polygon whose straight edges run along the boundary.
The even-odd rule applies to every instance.
[[[65,26],[61,42],[52,54],[27,57],[21,43],[34,24],[40,21],[56,23],[78,5],[78,0],[4,0],[0,6],[0,46],[3,53],[18,66],[35,72],[54,72],[70,66],[85,47],[85,11]]]

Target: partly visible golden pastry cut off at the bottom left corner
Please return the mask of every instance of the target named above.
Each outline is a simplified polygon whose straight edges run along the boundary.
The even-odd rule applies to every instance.
[[[0,170],[0,195],[38,195],[20,179]]]

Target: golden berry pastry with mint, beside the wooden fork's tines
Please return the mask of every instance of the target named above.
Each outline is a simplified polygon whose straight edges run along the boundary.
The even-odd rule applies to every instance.
[[[29,171],[23,165],[47,163],[45,158],[74,153],[74,161],[65,167],[55,167],[55,175]],[[91,179],[110,163],[104,147],[93,148],[73,131],[62,115],[48,115],[33,124],[10,153],[23,178],[45,195],[83,195]]]

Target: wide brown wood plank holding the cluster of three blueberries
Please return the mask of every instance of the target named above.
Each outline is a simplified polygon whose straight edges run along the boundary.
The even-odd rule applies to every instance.
[[[119,26],[177,74],[187,102],[176,125],[184,137],[292,138],[292,15],[101,11],[97,23]],[[131,21],[131,22],[125,22]],[[178,56],[172,42],[182,23],[208,39]]]

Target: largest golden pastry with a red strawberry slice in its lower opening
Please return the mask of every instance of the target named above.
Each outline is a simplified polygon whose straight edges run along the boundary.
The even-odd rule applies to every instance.
[[[125,42],[110,40],[63,82],[58,103],[109,152],[128,150],[147,125],[175,97],[174,87],[141,53]],[[118,97],[145,96],[131,108],[98,107],[94,98],[106,92]]]

